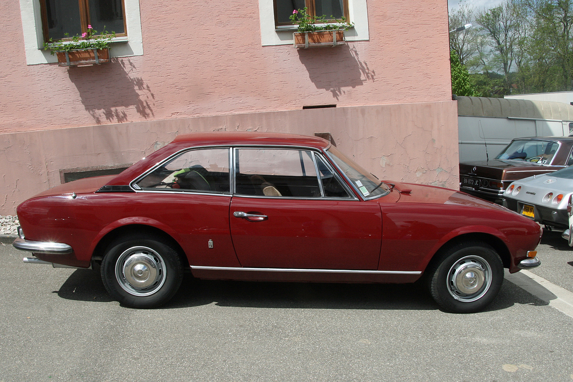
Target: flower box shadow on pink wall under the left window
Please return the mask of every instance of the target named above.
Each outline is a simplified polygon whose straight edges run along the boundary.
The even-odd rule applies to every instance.
[[[122,123],[128,121],[129,107],[146,119],[154,115],[155,96],[143,78],[129,75],[135,70],[130,60],[115,58],[109,64],[69,68],[68,75],[96,123]]]

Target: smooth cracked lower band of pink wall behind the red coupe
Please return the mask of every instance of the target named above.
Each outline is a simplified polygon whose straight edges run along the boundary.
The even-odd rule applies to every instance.
[[[60,184],[66,168],[135,163],[179,133],[331,132],[336,147],[380,179],[458,187],[454,101],[192,117],[0,135],[0,215]]]

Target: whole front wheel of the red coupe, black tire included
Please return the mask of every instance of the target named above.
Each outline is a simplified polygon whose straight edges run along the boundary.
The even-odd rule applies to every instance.
[[[501,258],[480,241],[449,247],[427,272],[431,296],[453,313],[484,309],[496,297],[504,277]]]

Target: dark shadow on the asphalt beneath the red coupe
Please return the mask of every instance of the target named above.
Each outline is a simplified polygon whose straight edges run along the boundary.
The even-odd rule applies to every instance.
[[[68,300],[114,301],[105,290],[99,272],[93,270],[74,271],[54,293]],[[174,298],[159,309],[209,304],[241,308],[440,310],[418,284],[219,281],[194,279],[190,274],[185,275]],[[486,312],[515,304],[547,305],[504,281]]]

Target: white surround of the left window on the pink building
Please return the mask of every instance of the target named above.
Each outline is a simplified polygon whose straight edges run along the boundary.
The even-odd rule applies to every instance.
[[[40,0],[20,0],[26,65],[58,62],[56,54],[44,50]],[[143,56],[142,22],[139,0],[125,0],[127,37],[116,37],[109,48],[111,57]]]

